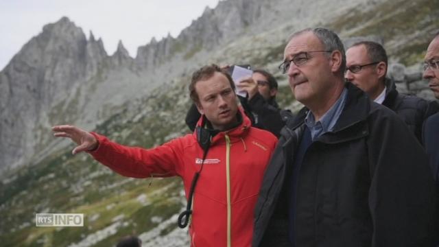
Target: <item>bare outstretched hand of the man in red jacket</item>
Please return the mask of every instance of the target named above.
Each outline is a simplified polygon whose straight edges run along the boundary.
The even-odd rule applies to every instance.
[[[78,127],[71,125],[60,125],[52,127],[55,137],[67,137],[74,141],[78,146],[73,149],[72,154],[78,154],[78,152],[91,151],[97,148],[97,139]]]

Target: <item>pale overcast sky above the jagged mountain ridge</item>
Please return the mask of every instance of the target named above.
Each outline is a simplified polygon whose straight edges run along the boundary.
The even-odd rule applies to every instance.
[[[0,0],[0,71],[43,25],[67,16],[102,38],[108,54],[122,40],[132,57],[152,37],[176,37],[218,0]]]

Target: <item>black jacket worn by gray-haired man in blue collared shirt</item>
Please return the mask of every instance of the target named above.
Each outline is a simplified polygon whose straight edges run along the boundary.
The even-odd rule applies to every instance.
[[[427,156],[396,115],[346,84],[333,132],[307,149],[296,191],[296,246],[431,246],[436,198]],[[288,243],[288,187],[307,109],[281,131],[265,171],[253,246]]]

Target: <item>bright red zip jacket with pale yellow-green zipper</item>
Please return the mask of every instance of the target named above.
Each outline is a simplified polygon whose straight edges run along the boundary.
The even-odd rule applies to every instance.
[[[277,139],[250,125],[244,117],[240,126],[212,139],[193,196],[191,246],[251,245],[254,205]],[[100,163],[134,178],[180,176],[188,197],[203,155],[195,132],[150,150],[93,134],[99,147],[91,154]]]

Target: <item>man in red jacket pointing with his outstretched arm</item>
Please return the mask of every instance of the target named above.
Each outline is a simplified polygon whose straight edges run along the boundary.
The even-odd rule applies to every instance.
[[[189,91],[202,114],[195,132],[150,150],[75,126],[52,129],[78,144],[73,154],[88,152],[123,176],[180,176],[189,205],[178,224],[184,227],[191,214],[192,246],[250,246],[254,205],[277,139],[251,126],[233,80],[217,65],[195,71]]]

